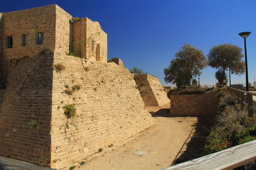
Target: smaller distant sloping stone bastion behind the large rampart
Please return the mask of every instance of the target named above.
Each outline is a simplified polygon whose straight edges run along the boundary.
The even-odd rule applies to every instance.
[[[162,106],[170,102],[157,77],[149,74],[134,75],[145,105]]]

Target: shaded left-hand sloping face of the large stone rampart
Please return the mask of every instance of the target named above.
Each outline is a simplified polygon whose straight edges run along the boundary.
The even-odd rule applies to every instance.
[[[20,60],[0,108],[0,156],[49,166],[53,53]],[[29,127],[35,120],[36,125]]]

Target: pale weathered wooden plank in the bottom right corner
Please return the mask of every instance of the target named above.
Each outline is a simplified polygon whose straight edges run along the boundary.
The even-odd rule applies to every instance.
[[[256,159],[256,140],[163,170],[231,170]]]

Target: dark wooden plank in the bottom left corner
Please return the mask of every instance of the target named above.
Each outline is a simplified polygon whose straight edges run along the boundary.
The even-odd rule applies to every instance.
[[[27,162],[23,162],[23,161],[17,161],[14,159],[9,159],[9,158],[4,158],[4,157],[0,157],[0,162],[1,164],[3,164],[3,166],[11,166],[13,168],[15,167],[19,167],[19,168],[23,168],[26,170],[54,170],[52,168],[49,167],[40,167],[38,165],[35,164],[30,164]]]

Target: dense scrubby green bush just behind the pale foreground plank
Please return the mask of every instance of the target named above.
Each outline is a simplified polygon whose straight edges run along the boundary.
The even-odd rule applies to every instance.
[[[256,117],[249,117],[247,114],[245,109],[241,109],[241,105],[226,106],[217,116],[217,123],[207,136],[207,153],[256,140]]]

